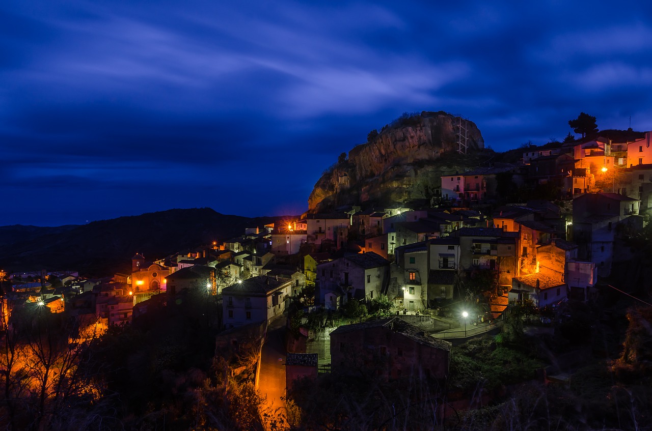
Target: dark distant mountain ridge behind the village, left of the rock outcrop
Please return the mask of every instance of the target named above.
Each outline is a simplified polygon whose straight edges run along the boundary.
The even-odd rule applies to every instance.
[[[213,241],[240,236],[247,227],[263,227],[278,217],[225,215],[211,208],[175,209],[93,221],[87,225],[38,228],[0,227],[12,242],[0,242],[0,268],[28,270],[79,270],[98,277],[128,272],[131,258],[163,258]],[[36,228],[36,229],[31,229]],[[25,234],[22,240],[16,240]]]

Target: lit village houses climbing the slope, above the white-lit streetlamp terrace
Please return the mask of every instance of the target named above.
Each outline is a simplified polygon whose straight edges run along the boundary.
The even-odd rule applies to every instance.
[[[467,297],[478,279],[492,285],[485,299],[494,313],[511,299],[537,307],[587,301],[597,277],[628,258],[621,237],[640,229],[651,208],[649,141],[649,132],[632,132],[524,148],[522,163],[441,176],[440,208],[303,214],[168,257],[136,253],[130,273],[110,279],[59,273],[62,285],[52,288],[8,275],[3,316],[27,303],[110,326],[200,290],[221,298],[228,329],[266,322],[292,298],[337,310],[386,296],[398,313],[428,313]],[[548,184],[560,201],[497,206],[505,178]]]

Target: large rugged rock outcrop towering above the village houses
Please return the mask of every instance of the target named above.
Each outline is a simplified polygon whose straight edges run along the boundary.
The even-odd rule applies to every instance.
[[[403,116],[327,169],[308,197],[308,212],[325,212],[345,204],[391,205],[430,199],[442,174],[464,171],[462,160],[437,163],[459,148],[460,123],[467,154],[484,148],[477,126],[443,111]],[[464,139],[466,130],[466,140]]]

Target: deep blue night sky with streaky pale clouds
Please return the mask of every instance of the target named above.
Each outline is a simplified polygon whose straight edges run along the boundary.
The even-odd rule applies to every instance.
[[[651,130],[651,18],[644,1],[3,1],[0,225],[298,214],[406,111],[464,115],[494,150],[563,139],[580,111]]]

